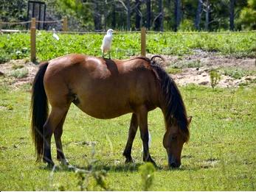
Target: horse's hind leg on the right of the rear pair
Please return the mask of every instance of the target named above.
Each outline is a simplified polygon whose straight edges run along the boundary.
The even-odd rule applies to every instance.
[[[63,153],[62,142],[61,142],[61,135],[63,132],[63,124],[66,119],[66,113],[63,116],[63,118],[61,119],[60,123],[58,124],[58,127],[55,129],[55,132],[54,132],[55,144],[56,144],[56,149],[57,149],[57,160],[59,160],[64,165],[69,164],[69,162],[66,160],[65,155]]]

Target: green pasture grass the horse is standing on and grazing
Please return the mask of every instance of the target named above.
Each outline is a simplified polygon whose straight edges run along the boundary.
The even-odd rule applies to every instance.
[[[13,89],[0,77],[0,190],[80,190],[77,174],[66,169],[51,171],[35,163],[30,137],[30,85]],[[152,191],[255,191],[256,181],[256,88],[221,89],[189,85],[180,88],[188,115],[193,115],[191,137],[182,151],[182,166],[167,168],[162,146],[165,132],[161,110],[149,113],[151,155],[160,167],[154,172]],[[86,167],[95,144],[96,170],[104,168],[109,188],[142,190],[139,166],[142,141],[137,133],[132,155],[135,165],[126,166],[122,151],[128,137],[131,114],[99,120],[72,105],[63,128],[63,149],[72,165]],[[56,156],[52,140],[52,155]],[[56,159],[54,159],[56,162]],[[95,187],[89,180],[89,190]]]

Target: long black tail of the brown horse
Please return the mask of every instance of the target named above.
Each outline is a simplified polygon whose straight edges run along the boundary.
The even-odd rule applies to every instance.
[[[35,143],[37,161],[41,160],[44,149],[44,123],[48,117],[48,100],[44,90],[44,74],[48,62],[41,63],[32,84],[31,96],[31,130]]]

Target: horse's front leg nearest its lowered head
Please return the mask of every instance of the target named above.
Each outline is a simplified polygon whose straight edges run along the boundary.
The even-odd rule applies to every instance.
[[[142,138],[143,143],[143,161],[151,162],[154,166],[156,163],[151,158],[151,154],[148,149],[148,110],[145,106],[139,109],[139,131],[140,138]]]

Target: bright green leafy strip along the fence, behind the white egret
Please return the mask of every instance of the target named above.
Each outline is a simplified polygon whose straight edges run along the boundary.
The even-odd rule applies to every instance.
[[[101,56],[100,45],[103,35],[58,34],[60,40],[52,38],[52,33],[37,32],[37,58],[49,60],[64,54],[83,53]],[[255,57],[255,32],[247,33],[157,33],[147,34],[147,52],[151,54],[184,55],[193,49],[215,51],[235,57]],[[111,57],[128,58],[140,54],[140,34],[114,34]],[[4,34],[0,36],[0,63],[10,59],[30,57],[30,34]]]

